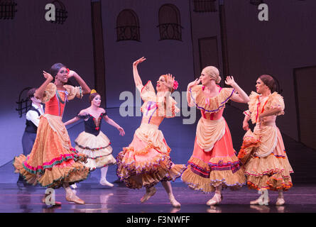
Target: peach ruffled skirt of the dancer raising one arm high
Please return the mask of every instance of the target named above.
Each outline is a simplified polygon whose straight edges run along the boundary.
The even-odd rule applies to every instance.
[[[186,167],[170,160],[170,150],[158,126],[141,123],[129,147],[116,157],[116,175],[131,189],[175,181]]]

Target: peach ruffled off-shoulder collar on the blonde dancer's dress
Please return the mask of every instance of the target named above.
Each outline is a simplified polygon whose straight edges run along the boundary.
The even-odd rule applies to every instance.
[[[221,88],[217,96],[207,97],[203,94],[203,86],[196,85],[190,89],[191,106],[195,105],[198,109],[202,109],[208,113],[218,112],[225,107],[225,104],[231,96],[233,96],[235,89]]]

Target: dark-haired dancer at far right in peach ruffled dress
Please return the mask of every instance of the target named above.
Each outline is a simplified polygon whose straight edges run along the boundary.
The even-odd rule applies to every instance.
[[[250,202],[252,205],[261,204],[268,189],[278,191],[276,205],[283,205],[283,191],[293,186],[290,177],[293,170],[276,126],[276,116],[284,114],[285,105],[283,97],[275,91],[273,77],[261,75],[256,81],[257,93],[251,92],[249,110],[244,112],[243,128],[247,132],[238,157],[245,164],[249,189],[261,192],[259,199]],[[249,129],[250,119],[256,123],[254,133]]]

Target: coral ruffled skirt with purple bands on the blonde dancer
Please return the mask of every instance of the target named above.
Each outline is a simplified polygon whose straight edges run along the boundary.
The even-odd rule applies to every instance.
[[[224,121],[224,118],[222,118]],[[195,138],[193,154],[187,162],[188,167],[182,174],[182,181],[189,185],[190,188],[202,191],[204,193],[214,192],[215,188],[222,186],[223,188],[238,189],[246,184],[244,171],[241,169],[241,163],[236,157],[236,152],[231,141],[231,134],[226,121],[210,123],[214,129],[212,135],[205,135],[205,138],[200,138],[200,141],[209,141],[212,149],[206,151],[197,143],[198,137]],[[204,127],[205,134],[209,133],[208,125],[198,124],[197,132],[203,131],[199,127]],[[224,127],[224,135],[220,135]],[[209,129],[209,130],[208,130]],[[200,136],[200,133],[197,133]],[[214,140],[216,137],[218,140]],[[205,147],[206,148],[206,147]]]

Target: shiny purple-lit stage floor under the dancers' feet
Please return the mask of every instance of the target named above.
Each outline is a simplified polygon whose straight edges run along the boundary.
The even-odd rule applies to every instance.
[[[238,191],[225,189],[224,199],[219,206],[207,206],[205,202],[212,194],[202,194],[173,182],[175,198],[181,203],[180,209],[173,208],[165,190],[158,184],[156,194],[146,203],[139,199],[145,189],[128,189],[124,184],[104,187],[100,184],[77,184],[77,195],[85,200],[85,205],[73,204],[65,200],[64,189],[55,190],[56,201],[62,206],[47,206],[40,199],[45,193],[42,187],[29,186],[18,189],[16,184],[0,184],[1,213],[302,213],[316,212],[316,185],[296,185],[285,192],[286,204],[276,206],[277,192],[269,192],[268,206],[249,205],[256,199],[255,190],[243,187]]]

